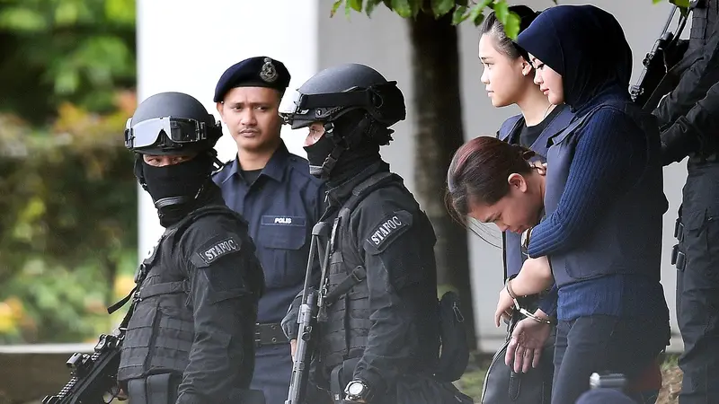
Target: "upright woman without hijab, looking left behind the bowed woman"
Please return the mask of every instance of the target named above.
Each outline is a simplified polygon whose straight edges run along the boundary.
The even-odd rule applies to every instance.
[[[510,12],[519,15],[519,32],[526,30],[539,15],[538,12],[526,5],[512,5]],[[572,111],[564,104],[554,105],[546,99],[546,95],[534,83],[535,72],[529,63],[527,51],[520,48],[515,41],[510,40],[495,13],[490,13],[487,16],[480,25],[479,33],[478,57],[483,66],[481,81],[484,83],[487,96],[494,107],[517,105],[520,112],[502,123],[497,137],[512,145],[522,145],[531,149],[536,153],[532,157],[533,162],[545,162],[547,140],[567,127],[573,118]],[[502,259],[504,280],[516,277],[526,259],[526,254],[521,250],[519,234],[509,231],[502,232]],[[551,288],[545,295],[528,296],[523,303],[530,312],[535,312],[537,315],[555,316],[556,288]],[[519,317],[515,317],[514,321],[510,321],[508,332],[516,327],[515,321],[518,320]],[[513,378],[510,368],[515,367],[514,364],[508,364],[510,367],[502,370],[499,367],[493,369],[495,373],[491,372],[492,377],[485,381],[489,385],[484,390],[487,395],[483,394],[483,399],[488,402],[503,402],[510,400],[511,395],[519,399],[527,397],[529,400],[536,400],[537,397],[530,398],[528,395],[541,391],[542,399],[550,400],[554,373],[554,364],[552,363],[554,338],[550,337],[549,339],[543,350],[541,361],[537,362],[537,369],[532,371],[540,373],[540,375],[529,379],[525,378],[522,382],[522,389],[514,391],[510,386]],[[502,347],[502,349],[504,348]],[[503,356],[503,353],[500,355]],[[518,366],[515,370],[519,372],[521,370],[519,361],[516,364]],[[528,367],[524,369],[525,372],[529,371]]]

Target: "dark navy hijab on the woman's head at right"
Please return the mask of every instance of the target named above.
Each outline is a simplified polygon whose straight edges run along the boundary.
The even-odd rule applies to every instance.
[[[574,111],[602,92],[629,96],[632,49],[617,19],[599,7],[548,8],[517,42],[562,75],[564,102]]]

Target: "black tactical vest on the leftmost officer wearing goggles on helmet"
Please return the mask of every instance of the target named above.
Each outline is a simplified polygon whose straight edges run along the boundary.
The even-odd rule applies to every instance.
[[[228,215],[247,226],[241,215],[226,206],[207,206],[165,230],[135,276],[138,290],[122,343],[119,381],[154,373],[182,374],[190,363],[194,322],[189,274],[182,265],[178,242],[187,228],[204,215]]]

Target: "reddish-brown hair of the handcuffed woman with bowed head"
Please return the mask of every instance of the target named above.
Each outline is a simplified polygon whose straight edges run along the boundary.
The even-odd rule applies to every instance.
[[[512,173],[532,171],[535,153],[492,136],[479,136],[460,146],[447,171],[445,204],[449,214],[465,223],[472,203],[493,205],[510,192]]]

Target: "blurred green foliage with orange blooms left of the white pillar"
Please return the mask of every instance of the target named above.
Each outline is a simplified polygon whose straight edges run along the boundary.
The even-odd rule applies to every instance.
[[[137,261],[134,0],[0,0],[0,343],[95,340]]]

